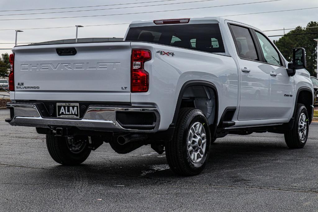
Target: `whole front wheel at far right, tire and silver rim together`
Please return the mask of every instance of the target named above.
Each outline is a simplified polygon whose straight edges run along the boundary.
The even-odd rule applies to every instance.
[[[285,132],[285,142],[291,149],[302,148],[308,138],[308,112],[303,104],[297,104],[293,129]]]

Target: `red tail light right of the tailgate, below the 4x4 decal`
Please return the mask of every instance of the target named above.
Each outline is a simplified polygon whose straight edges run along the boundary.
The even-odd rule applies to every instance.
[[[133,49],[131,54],[131,92],[147,92],[149,74],[144,70],[144,63],[151,59],[147,50]]]

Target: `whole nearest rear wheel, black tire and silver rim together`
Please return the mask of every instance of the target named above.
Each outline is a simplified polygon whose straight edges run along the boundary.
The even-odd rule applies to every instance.
[[[210,153],[209,123],[199,109],[182,108],[172,141],[165,144],[168,164],[172,171],[183,176],[199,174]]]

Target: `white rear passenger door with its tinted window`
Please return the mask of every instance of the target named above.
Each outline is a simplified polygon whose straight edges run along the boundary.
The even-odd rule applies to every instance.
[[[230,24],[238,53],[240,68],[239,121],[268,119],[271,113],[269,97],[269,69],[260,63],[261,54],[256,48],[251,29]]]

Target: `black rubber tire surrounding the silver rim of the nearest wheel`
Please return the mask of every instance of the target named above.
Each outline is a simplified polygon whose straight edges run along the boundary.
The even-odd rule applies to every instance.
[[[191,126],[197,122],[201,123],[204,127],[206,144],[205,152],[199,158],[201,160],[194,163],[188,153],[188,133]],[[182,176],[193,176],[201,173],[209,158],[210,144],[210,128],[204,113],[195,108],[180,109],[173,139],[172,141],[167,141],[165,144],[166,158],[171,170]],[[203,138],[201,145],[203,147]]]

